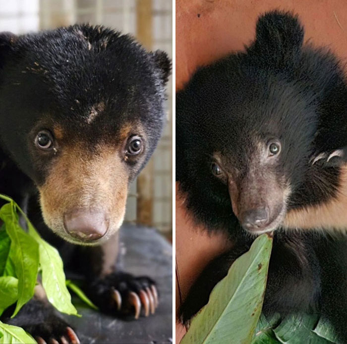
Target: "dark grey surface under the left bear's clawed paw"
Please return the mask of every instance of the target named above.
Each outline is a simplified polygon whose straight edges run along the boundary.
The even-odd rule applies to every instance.
[[[154,315],[124,321],[85,306],[73,297],[82,318],[64,316],[77,329],[81,343],[172,343],[172,245],[155,229],[124,224],[120,229],[119,265],[157,282],[160,303]]]

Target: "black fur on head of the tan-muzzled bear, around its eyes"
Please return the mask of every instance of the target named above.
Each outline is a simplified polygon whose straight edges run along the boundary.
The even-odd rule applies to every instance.
[[[116,140],[125,121],[141,120],[150,133],[148,152],[133,176],[143,168],[164,123],[171,69],[164,52],[148,54],[128,35],[89,25],[19,37],[6,33],[0,47],[1,148],[26,175],[41,184],[48,173],[49,164],[35,160],[29,144],[42,122],[59,123],[71,140],[93,147]],[[90,108],[102,100],[107,104],[99,125],[88,127]]]

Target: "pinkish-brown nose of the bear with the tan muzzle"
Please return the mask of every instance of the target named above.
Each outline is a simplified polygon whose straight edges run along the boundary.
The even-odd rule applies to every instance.
[[[64,214],[65,230],[82,241],[95,241],[109,228],[109,220],[102,211],[79,209]]]

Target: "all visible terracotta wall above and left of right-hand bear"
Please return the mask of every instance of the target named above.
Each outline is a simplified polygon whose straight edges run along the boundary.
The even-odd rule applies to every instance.
[[[347,62],[347,0],[176,0],[176,90],[197,66],[242,50],[254,39],[259,14],[276,8],[297,13],[305,41],[328,46]],[[226,238],[197,228],[184,197],[177,198],[176,263],[183,298],[207,262],[226,248]],[[177,340],[183,333],[177,327]]]

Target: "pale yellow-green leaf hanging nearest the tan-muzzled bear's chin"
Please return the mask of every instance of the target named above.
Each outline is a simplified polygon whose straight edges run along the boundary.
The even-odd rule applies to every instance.
[[[40,237],[29,220],[27,220],[27,225],[29,234],[39,244],[42,286],[48,300],[62,313],[78,315],[76,308],[71,303],[71,295],[65,284],[62,260],[57,249]]]

